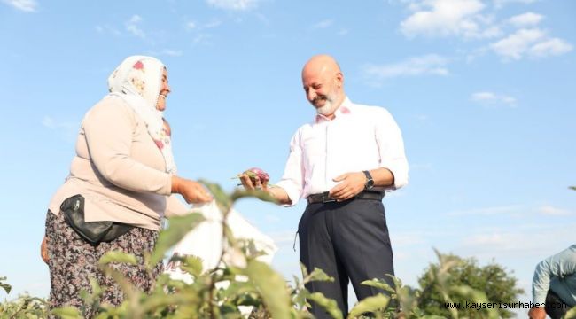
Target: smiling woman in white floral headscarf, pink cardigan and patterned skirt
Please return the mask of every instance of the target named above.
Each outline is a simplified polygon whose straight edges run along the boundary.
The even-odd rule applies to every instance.
[[[91,291],[90,278],[105,289],[101,302],[121,304],[120,287],[97,268],[100,257],[113,250],[136,255],[138,265],[113,267],[150,291],[162,262],[149,274],[144,253],[152,251],[165,214],[186,212],[172,194],[180,193],[188,203],[212,199],[201,184],[176,175],[163,117],[170,93],[166,66],[152,57],[128,57],[108,78],[108,89],[82,120],[70,174],[51,199],[46,217],[43,257],[50,267],[51,307],[82,307],[79,292]],[[75,195],[83,198],[85,222],[113,222],[128,232],[97,243],[84,239],[61,210]],[[74,209],[82,208],[80,203]],[[88,307],[84,315],[95,315],[94,309]]]

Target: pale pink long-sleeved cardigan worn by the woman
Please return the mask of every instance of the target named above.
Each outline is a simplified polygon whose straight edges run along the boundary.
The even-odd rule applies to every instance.
[[[124,222],[160,229],[164,214],[188,209],[171,195],[171,175],[146,125],[120,97],[105,97],[82,120],[70,175],[51,199],[59,213],[75,194],[85,200],[87,222]]]

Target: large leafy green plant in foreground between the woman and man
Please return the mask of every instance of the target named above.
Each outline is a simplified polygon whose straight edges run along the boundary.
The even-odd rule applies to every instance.
[[[304,284],[310,280],[331,280],[321,270],[315,269],[304,277],[302,283],[292,288],[283,276],[256,259],[260,252],[255,251],[253,243],[232,236],[226,224],[226,216],[235,201],[247,197],[267,201],[273,201],[274,198],[262,191],[236,190],[226,194],[214,183],[203,183],[214,194],[218,206],[224,212],[222,237],[225,238],[227,251],[234,254],[234,260],[225,259],[225,251],[222,249],[220,266],[203,269],[197,257],[176,256],[172,261],[190,274],[193,282],[187,284],[162,275],[157,280],[156,288],[147,294],[137,290],[110,267],[115,262],[135,263],[136,258],[126,253],[106,253],[99,261],[100,268],[120,284],[125,292],[125,300],[119,307],[101,304],[99,296],[102,289],[92,281],[92,291],[84,292],[83,300],[97,309],[97,318],[240,318],[242,306],[253,307],[253,315],[262,318],[309,318],[306,300],[315,300],[335,318],[342,317],[336,302],[326,299],[322,294],[307,292],[304,288]],[[147,267],[152,269],[152,265],[164,258],[170,247],[203,220],[202,215],[194,213],[171,218],[167,230],[160,233],[154,251],[145,258]],[[74,307],[54,309],[52,313],[63,318],[81,318],[83,315],[82,309]]]

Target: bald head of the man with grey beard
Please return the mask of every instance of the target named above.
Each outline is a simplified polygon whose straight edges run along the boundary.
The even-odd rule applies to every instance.
[[[334,58],[317,55],[310,58],[302,68],[302,85],[307,100],[314,105],[316,112],[328,118],[344,101],[344,75]]]

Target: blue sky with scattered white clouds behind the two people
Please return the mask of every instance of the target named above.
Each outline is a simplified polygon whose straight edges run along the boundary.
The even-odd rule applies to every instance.
[[[396,275],[416,284],[435,248],[495,261],[530,292],[536,263],[574,243],[574,13],[571,0],[0,0],[0,276],[13,287],[0,299],[48,295],[48,203],[83,114],[135,54],[167,65],[179,174],[227,191],[249,167],[280,178],[315,115],[301,67],[330,54],[348,97],[402,131],[409,184],[384,199]],[[287,278],[304,208],[237,203]]]

